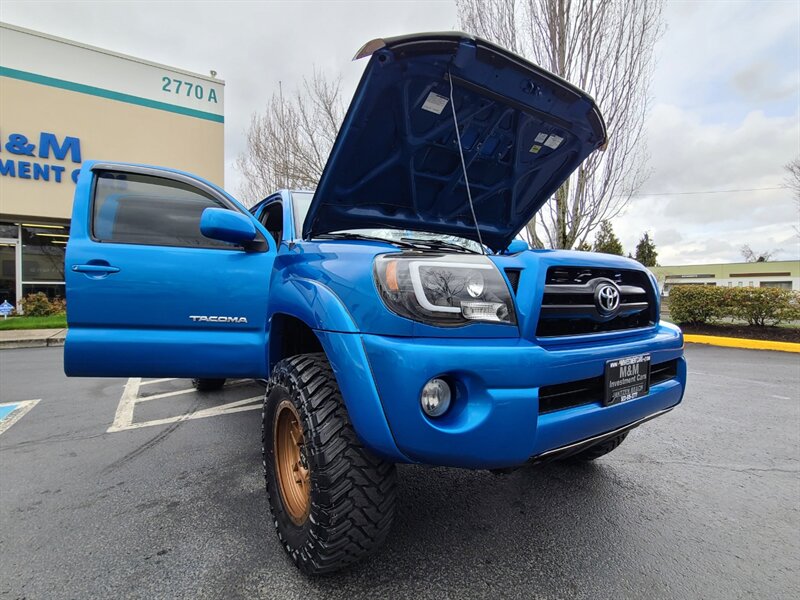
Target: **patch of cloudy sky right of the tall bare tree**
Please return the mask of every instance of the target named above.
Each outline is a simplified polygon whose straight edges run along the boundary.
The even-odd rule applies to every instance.
[[[666,16],[646,131],[652,174],[614,224],[620,239],[632,250],[649,231],[661,264],[741,260],[743,244],[800,258],[788,190],[683,194],[783,184],[800,155],[800,5],[673,2]]]

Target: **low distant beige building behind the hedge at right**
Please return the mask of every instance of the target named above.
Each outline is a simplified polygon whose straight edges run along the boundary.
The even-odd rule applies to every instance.
[[[650,270],[664,295],[669,295],[670,288],[676,285],[800,290],[800,261],[796,260],[651,267]]]

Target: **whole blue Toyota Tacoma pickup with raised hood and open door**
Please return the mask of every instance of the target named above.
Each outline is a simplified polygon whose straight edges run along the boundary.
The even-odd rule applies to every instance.
[[[606,129],[592,98],[460,33],[374,40],[314,193],[248,211],[188,173],[83,165],[70,376],[268,381],[266,488],[309,574],[385,539],[396,463],[593,460],[674,408],[656,281],[515,239]]]

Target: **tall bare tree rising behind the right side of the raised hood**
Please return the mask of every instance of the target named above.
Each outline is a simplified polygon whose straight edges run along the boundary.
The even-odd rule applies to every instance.
[[[644,121],[662,0],[456,0],[461,26],[586,90],[608,126],[605,152],[576,170],[527,226],[537,246],[586,243],[647,178]]]

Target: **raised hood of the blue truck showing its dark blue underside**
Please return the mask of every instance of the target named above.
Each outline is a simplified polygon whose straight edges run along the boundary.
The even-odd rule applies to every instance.
[[[592,98],[485,40],[425,33],[373,40],[303,225],[303,237],[387,227],[505,249],[606,142]],[[475,207],[472,217],[450,102]]]

